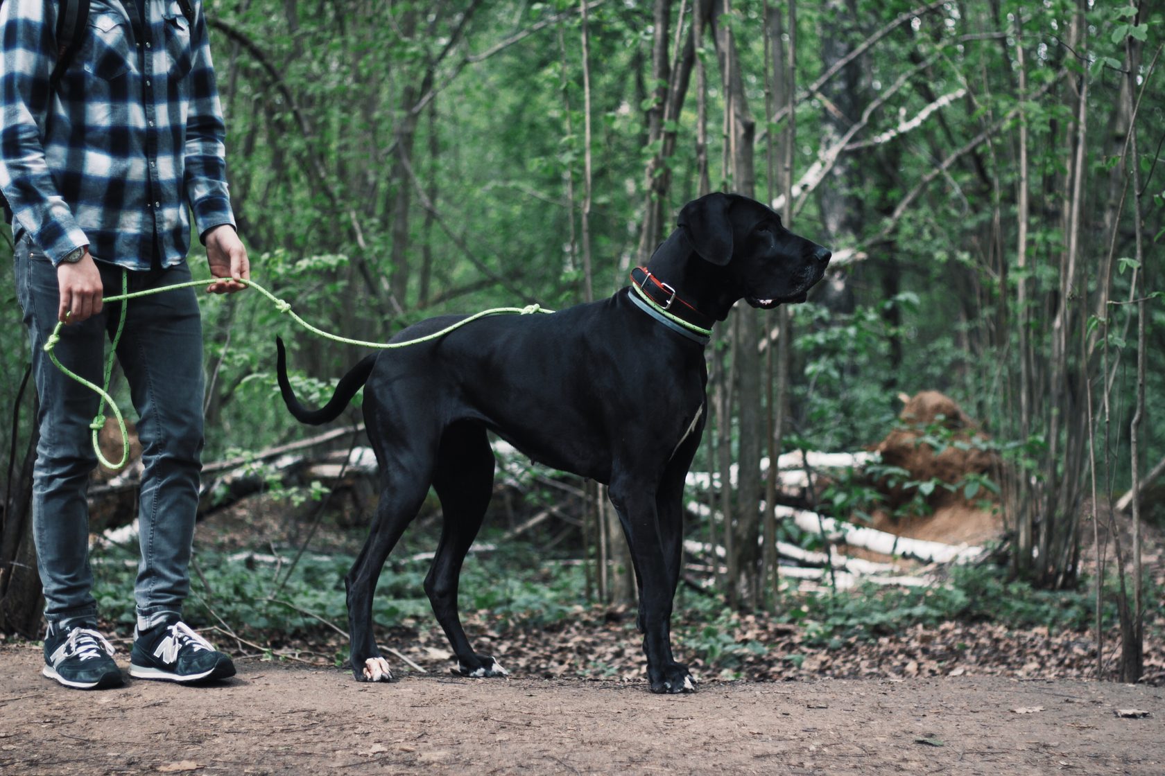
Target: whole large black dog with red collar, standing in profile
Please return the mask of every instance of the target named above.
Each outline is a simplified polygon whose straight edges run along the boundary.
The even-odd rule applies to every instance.
[[[687,667],[672,657],[670,620],[684,477],[706,418],[707,330],[739,299],[763,308],[804,301],[829,255],[782,227],[764,205],[709,194],[683,208],[679,228],[631,273],[634,285],[609,299],[550,315],[483,318],[439,340],[368,356],[320,410],[296,400],[278,342],[283,400],[302,422],[333,420],[367,385],[363,417],[381,494],[370,535],[345,577],[356,679],[391,678],[373,635],[372,598],[430,484],[444,528],[425,592],[457,672],[506,674],[473,650],[457,610],[461,562],[493,490],[492,430],[535,461],[609,486],[635,565],[651,691],[692,691]],[[460,318],[422,321],[394,341]]]

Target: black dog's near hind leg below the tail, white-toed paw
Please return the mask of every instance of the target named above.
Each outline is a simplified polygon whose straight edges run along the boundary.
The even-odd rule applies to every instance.
[[[394,451],[397,455],[393,461],[380,461],[381,491],[376,517],[359,557],[344,578],[352,639],[352,674],[361,682],[388,682],[393,678],[373,633],[373,595],[388,554],[421,510],[431,482],[431,453]]]

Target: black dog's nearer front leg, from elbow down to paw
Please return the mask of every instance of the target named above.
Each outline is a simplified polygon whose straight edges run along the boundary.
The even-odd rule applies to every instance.
[[[694,692],[696,682],[687,665],[677,663],[671,653],[675,571],[665,554],[665,544],[670,542],[661,533],[670,534],[678,528],[659,525],[654,490],[644,489],[642,483],[628,487],[612,483],[610,501],[630,532],[628,539],[640,571],[640,625],[651,692]]]

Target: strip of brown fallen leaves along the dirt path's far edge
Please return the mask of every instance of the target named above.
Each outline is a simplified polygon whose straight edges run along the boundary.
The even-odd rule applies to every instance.
[[[495,656],[511,676],[582,677],[644,681],[642,636],[635,610],[626,606],[578,606],[552,622],[467,612],[466,632],[479,653]],[[1096,647],[1090,633],[1053,633],[1035,627],[1012,631],[991,622],[916,625],[878,636],[855,634],[812,638],[812,628],[779,617],[735,615],[708,622],[677,614],[672,634],[677,660],[700,679],[789,681],[807,677],[1010,676],[1023,679],[1095,678]],[[240,633],[273,655],[312,664],[345,660],[348,646],[332,631]],[[220,647],[231,648],[219,635]],[[377,642],[398,650],[425,671],[447,674],[453,658],[445,635],[432,619],[408,620],[377,628]],[[1120,641],[1106,634],[1104,678],[1114,678]],[[234,645],[245,654],[243,642]],[[411,669],[393,662],[394,672]],[[1165,645],[1146,634],[1145,683],[1165,683]],[[1015,710],[1016,713],[1031,713]]]

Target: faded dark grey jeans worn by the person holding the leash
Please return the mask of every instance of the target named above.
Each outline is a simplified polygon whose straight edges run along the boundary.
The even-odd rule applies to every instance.
[[[120,268],[98,263],[106,297],[121,293]],[[97,465],[90,423],[98,396],[65,377],[43,347],[57,323],[57,271],[27,237],[16,243],[16,296],[33,346],[40,394],[41,440],[33,474],[33,531],[44,586],[45,619],[93,620],[86,492]],[[129,272],[129,291],[190,279],[190,268]],[[134,595],[139,627],[181,614],[190,590],[188,567],[198,508],[203,449],[203,332],[193,289],[132,299],[118,362],[140,417],[142,480],[139,510],[141,563]],[[116,330],[121,302],[62,327],[56,356],[100,385],[106,340]]]

